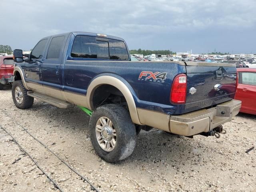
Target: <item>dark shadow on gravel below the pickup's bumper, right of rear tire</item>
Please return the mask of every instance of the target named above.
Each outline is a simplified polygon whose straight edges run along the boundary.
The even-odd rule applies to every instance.
[[[198,150],[197,146],[193,146],[194,142],[193,139],[168,134],[157,129],[149,132],[142,131],[137,136],[137,144],[132,156],[126,162],[131,160],[161,164],[186,162],[190,160],[192,154],[203,155],[204,150]]]

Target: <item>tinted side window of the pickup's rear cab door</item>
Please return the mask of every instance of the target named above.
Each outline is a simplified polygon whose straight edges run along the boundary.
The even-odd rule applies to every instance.
[[[52,38],[52,41],[50,43],[48,53],[47,53],[47,59],[60,58],[60,50],[62,49],[62,46],[64,44],[64,38],[65,36]]]

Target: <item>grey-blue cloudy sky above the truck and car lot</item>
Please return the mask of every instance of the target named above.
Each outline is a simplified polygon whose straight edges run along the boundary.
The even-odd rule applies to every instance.
[[[1,0],[0,14],[0,44],[12,49],[85,31],[129,49],[256,54],[256,0]]]

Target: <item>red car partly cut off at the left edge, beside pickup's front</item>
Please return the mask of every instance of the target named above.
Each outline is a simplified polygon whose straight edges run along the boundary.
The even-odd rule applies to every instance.
[[[0,90],[13,82],[14,61],[12,56],[0,56]]]

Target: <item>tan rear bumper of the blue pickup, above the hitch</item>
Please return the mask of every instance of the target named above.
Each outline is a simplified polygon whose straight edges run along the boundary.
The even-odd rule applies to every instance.
[[[170,116],[170,132],[192,136],[210,130],[231,121],[241,108],[241,101],[231,100],[218,104],[214,108],[197,110],[179,116]]]

